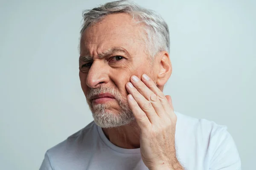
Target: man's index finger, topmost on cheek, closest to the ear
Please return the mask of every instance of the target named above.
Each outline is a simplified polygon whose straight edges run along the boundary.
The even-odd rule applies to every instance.
[[[163,105],[163,108],[166,112],[168,112],[171,107],[169,105],[168,100],[166,99],[166,96],[163,94],[162,91],[160,91],[160,89],[155,85],[155,83],[153,82],[152,79],[150,79],[146,74],[142,75],[142,79],[141,79],[145,85],[154,92],[154,94],[157,95],[158,99],[160,100],[160,102]]]

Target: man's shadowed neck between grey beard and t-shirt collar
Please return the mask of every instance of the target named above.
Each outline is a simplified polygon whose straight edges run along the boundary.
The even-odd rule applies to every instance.
[[[102,128],[108,140],[118,147],[135,149],[140,147],[140,127],[134,120],[128,125]]]

